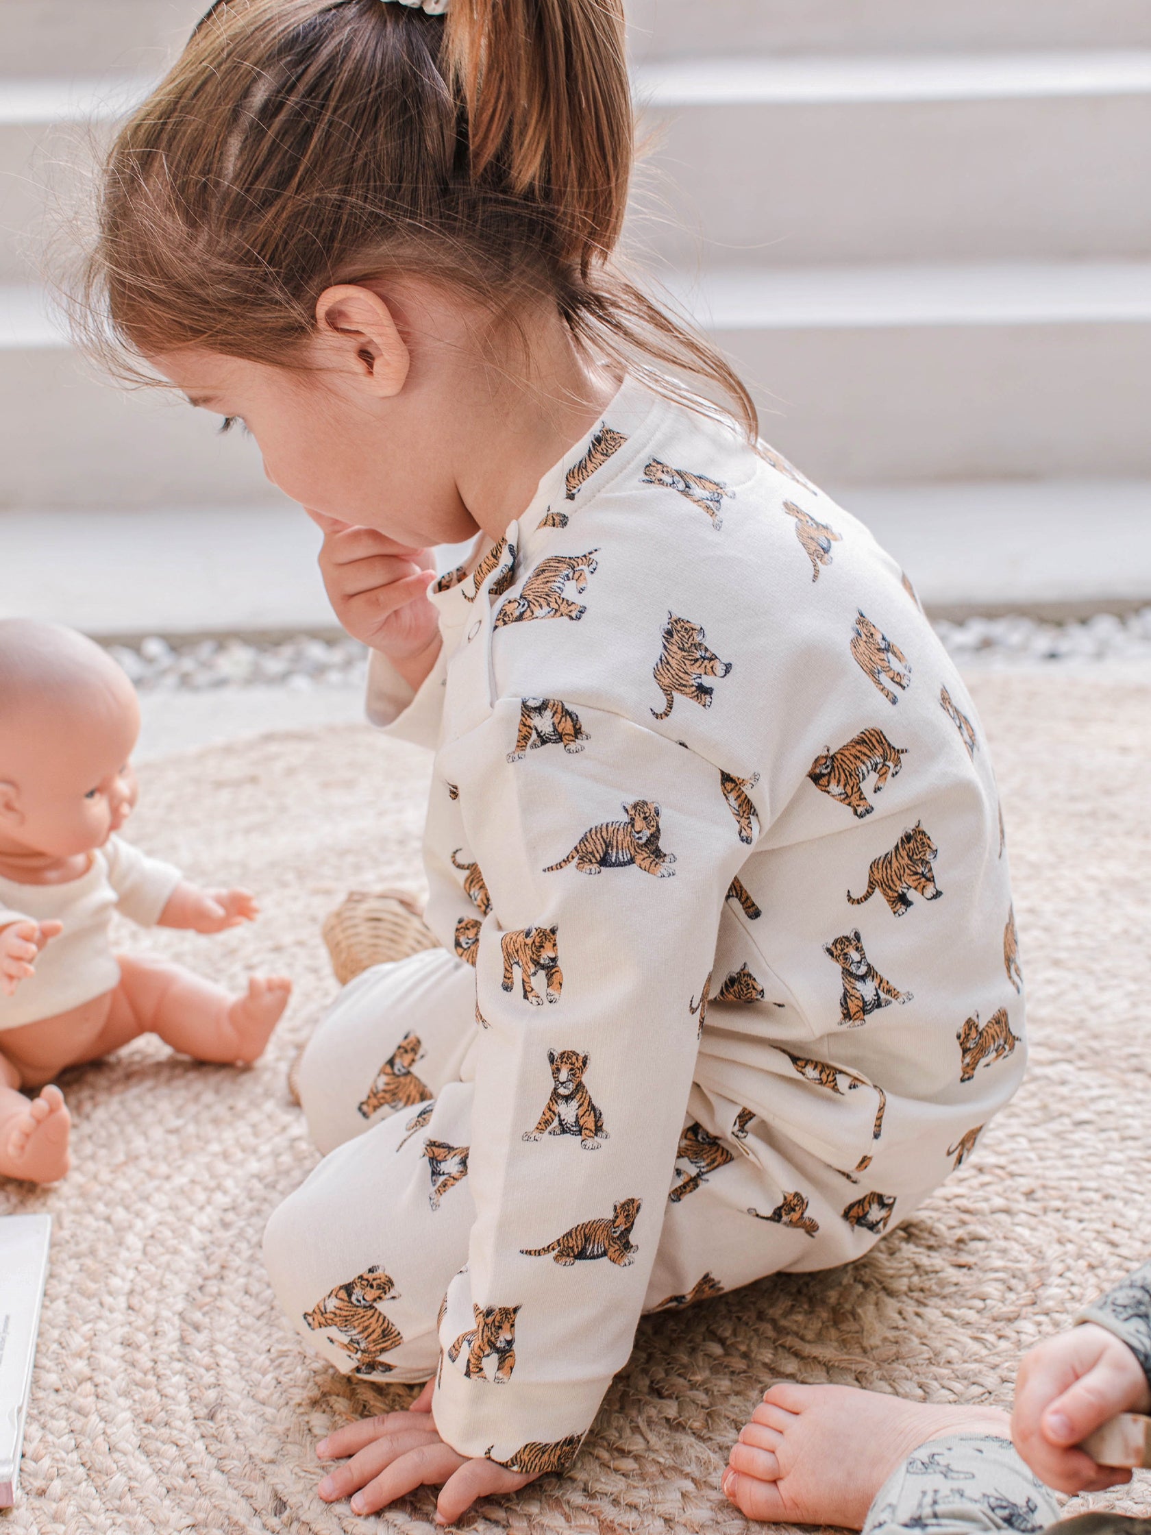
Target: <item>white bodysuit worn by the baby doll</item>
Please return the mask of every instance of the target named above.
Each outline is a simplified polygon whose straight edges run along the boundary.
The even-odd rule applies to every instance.
[[[57,1018],[118,985],[120,966],[107,941],[112,913],[153,927],[180,880],[173,864],[147,858],[118,837],[97,847],[86,875],[66,884],[0,880],[0,927],[64,924],[40,950],[35,975],[17,985],[15,996],[0,992],[0,1032]]]

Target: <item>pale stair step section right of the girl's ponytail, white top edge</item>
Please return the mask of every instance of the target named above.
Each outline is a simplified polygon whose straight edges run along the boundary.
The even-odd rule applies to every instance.
[[[672,264],[1151,255],[1151,49],[704,57],[637,100],[631,238]]]

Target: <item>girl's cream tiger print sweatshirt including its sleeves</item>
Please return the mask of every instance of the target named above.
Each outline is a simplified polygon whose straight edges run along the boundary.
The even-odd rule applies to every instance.
[[[436,1424],[467,1455],[574,1451],[684,1219],[750,1254],[694,1294],[846,1262],[1011,1096],[1002,821],[895,560],[637,381],[431,600],[436,666],[413,694],[374,655],[368,715],[436,754],[427,921],[476,967]],[[586,1088],[563,1125],[556,1059]],[[709,1176],[738,1156],[780,1202],[760,1222]],[[483,1308],[514,1317],[510,1369],[448,1354]]]

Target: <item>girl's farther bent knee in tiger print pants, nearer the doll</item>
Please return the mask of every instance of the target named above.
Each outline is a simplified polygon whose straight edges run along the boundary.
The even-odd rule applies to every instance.
[[[327,1153],[391,1114],[407,1124],[419,1104],[459,1081],[476,1033],[476,972],[445,949],[364,970],[299,1061],[312,1139]]]

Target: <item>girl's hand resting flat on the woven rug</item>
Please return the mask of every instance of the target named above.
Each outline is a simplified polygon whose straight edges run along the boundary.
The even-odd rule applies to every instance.
[[[378,1514],[416,1487],[442,1484],[436,1500],[436,1523],[454,1524],[477,1498],[496,1492],[519,1492],[534,1477],[520,1477],[491,1460],[468,1460],[445,1444],[431,1417],[428,1382],[407,1412],[362,1418],[328,1434],[316,1446],[321,1460],[351,1458],[319,1484],[325,1503],[351,1494],[353,1514]]]

